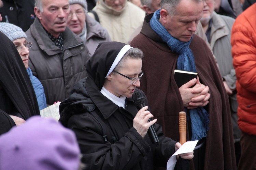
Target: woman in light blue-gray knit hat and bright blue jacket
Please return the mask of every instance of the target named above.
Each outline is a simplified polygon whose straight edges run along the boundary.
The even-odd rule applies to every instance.
[[[32,82],[35,95],[37,96],[37,102],[39,110],[46,108],[46,99],[44,95],[44,88],[37,77],[32,75],[31,69],[28,67],[28,55],[29,48],[32,47],[32,43],[27,42],[27,35],[21,28],[6,22],[0,22],[0,31],[4,33],[14,43],[16,49],[19,52],[20,57],[27,69],[29,78]]]

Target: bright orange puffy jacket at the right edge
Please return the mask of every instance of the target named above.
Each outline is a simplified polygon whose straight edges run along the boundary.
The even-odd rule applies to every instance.
[[[237,76],[238,126],[256,135],[256,3],[240,14],[231,32]]]

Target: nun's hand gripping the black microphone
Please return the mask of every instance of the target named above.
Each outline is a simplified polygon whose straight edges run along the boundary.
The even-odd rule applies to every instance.
[[[153,118],[153,114],[150,113],[150,111],[147,110],[148,107],[145,106],[142,109],[138,111],[136,114],[136,117],[133,119],[133,126],[137,132],[144,138],[147,134],[148,128],[156,123],[157,119],[154,119],[150,122],[147,122],[148,119]]]

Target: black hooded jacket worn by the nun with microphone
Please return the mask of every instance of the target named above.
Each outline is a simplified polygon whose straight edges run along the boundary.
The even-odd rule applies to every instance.
[[[60,104],[59,111],[59,121],[76,134],[86,169],[166,167],[174,153],[176,142],[163,137],[158,124],[154,124],[160,140],[158,144],[152,144],[148,135],[143,139],[132,127],[138,110],[131,98],[126,98],[125,109],[118,107],[98,90],[90,77],[74,86],[70,97]]]

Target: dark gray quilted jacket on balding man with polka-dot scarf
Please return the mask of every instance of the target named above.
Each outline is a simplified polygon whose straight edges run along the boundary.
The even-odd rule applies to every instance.
[[[33,43],[29,49],[29,67],[44,87],[46,103],[52,105],[63,101],[74,84],[87,76],[84,64],[89,56],[84,42],[66,27],[61,51],[48,37],[38,18],[26,34],[27,41]]]

